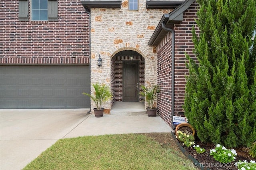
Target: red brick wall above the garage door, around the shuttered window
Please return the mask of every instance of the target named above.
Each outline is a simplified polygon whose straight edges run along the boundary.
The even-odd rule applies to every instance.
[[[89,63],[89,18],[80,0],[58,0],[58,21],[19,21],[18,3],[0,2],[1,64]]]

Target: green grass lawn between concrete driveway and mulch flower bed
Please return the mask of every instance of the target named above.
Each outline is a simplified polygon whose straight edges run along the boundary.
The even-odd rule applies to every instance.
[[[171,147],[122,134],[60,139],[24,170],[195,170],[183,164],[192,163]]]

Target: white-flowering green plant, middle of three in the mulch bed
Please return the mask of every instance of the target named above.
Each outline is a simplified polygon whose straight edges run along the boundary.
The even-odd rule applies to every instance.
[[[215,149],[210,150],[210,155],[220,163],[228,163],[236,159],[237,153],[234,149],[226,149],[226,147],[222,147],[220,144],[217,144]]]

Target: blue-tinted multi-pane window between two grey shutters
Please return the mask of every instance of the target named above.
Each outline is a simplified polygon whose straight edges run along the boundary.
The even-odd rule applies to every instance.
[[[31,0],[31,20],[48,20],[48,0]]]

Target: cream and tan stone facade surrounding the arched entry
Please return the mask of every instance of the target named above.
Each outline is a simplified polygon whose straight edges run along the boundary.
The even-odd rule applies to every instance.
[[[172,9],[146,9],[146,1],[139,1],[138,11],[128,10],[128,1],[122,1],[121,9],[91,9],[91,82],[106,83],[112,87],[114,98],[118,90],[113,89],[111,80],[113,68],[112,58],[120,51],[132,50],[144,58],[144,84],[156,83],[157,53],[156,47],[148,45],[148,41],[158,25],[161,17]],[[99,54],[102,66],[97,66]],[[92,89],[93,93],[93,89]],[[107,112],[113,102],[104,107]],[[94,108],[92,103],[91,108]]]

